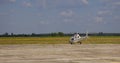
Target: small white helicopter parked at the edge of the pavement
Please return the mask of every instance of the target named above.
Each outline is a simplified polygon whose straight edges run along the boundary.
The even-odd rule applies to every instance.
[[[88,38],[88,32],[86,32],[85,36],[80,36],[79,33],[75,33],[74,36],[72,36],[69,40],[70,44],[74,44],[74,43],[80,43],[82,44],[82,41]]]

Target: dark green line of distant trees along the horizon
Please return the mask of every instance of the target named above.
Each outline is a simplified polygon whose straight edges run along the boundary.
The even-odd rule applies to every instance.
[[[80,36],[85,36],[85,33],[79,33]],[[44,34],[14,34],[14,33],[4,33],[0,34],[0,37],[64,37],[72,36],[74,33],[63,33],[63,32],[53,32],[53,33],[44,33]],[[120,36],[120,33],[88,33],[89,36]]]

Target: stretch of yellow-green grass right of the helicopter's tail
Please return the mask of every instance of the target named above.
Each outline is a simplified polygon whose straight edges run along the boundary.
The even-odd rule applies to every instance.
[[[120,44],[120,36],[95,36],[89,37],[85,44]]]

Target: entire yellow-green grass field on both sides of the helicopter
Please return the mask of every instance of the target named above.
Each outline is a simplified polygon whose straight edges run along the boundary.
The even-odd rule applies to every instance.
[[[0,37],[0,44],[68,44],[70,37]],[[120,36],[89,36],[83,44],[120,44]]]

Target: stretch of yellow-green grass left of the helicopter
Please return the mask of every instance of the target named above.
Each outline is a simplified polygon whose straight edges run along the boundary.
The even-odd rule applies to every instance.
[[[0,44],[65,44],[69,37],[1,37]]]

